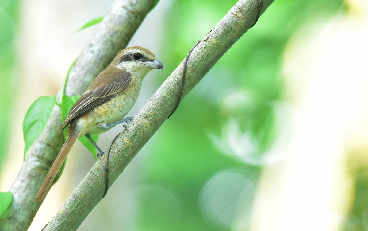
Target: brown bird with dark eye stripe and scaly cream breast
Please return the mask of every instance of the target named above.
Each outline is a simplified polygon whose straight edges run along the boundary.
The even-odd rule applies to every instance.
[[[45,197],[79,137],[85,136],[91,141],[99,151],[99,157],[103,155],[103,151],[92,140],[91,134],[106,132],[119,123],[123,123],[124,129],[127,129],[132,118],[124,116],[133,107],[142,81],[152,69],[163,69],[163,65],[148,49],[132,46],[121,50],[110,65],[93,80],[59,127],[63,131],[69,126],[67,138],[39,189],[36,202]]]

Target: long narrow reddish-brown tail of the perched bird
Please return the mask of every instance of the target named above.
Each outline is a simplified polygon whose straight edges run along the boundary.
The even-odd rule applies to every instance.
[[[63,147],[61,147],[61,150],[59,154],[57,155],[54,163],[52,164],[50,171],[47,173],[45,180],[43,181],[40,190],[37,193],[35,201],[38,202],[39,200],[42,200],[43,197],[45,197],[47,191],[50,189],[51,184],[53,183],[57,172],[59,172],[61,165],[63,165],[65,158],[67,157],[70,148],[73,146],[75,140],[79,137],[79,129],[75,128],[75,125],[70,125],[68,130],[68,137],[65,141]]]

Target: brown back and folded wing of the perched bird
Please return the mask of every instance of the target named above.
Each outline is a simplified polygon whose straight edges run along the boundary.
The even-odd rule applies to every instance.
[[[109,81],[106,81],[107,79]],[[129,87],[130,82],[131,73],[129,71],[117,69],[113,66],[107,67],[92,82],[81,98],[75,102],[69,115],[60,125],[59,129],[62,127],[62,130],[64,130],[73,119],[78,118],[96,106],[109,101],[109,99],[115,95],[123,93]]]

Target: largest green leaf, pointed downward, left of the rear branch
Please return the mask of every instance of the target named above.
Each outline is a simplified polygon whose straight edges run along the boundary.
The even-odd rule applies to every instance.
[[[40,136],[50,118],[56,96],[42,96],[28,108],[23,120],[24,157],[33,142]]]

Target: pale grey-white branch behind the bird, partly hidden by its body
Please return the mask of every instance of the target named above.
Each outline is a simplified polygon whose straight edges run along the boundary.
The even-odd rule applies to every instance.
[[[120,50],[127,46],[146,14],[158,0],[116,0],[99,25],[99,30],[72,67],[66,94],[82,94]],[[61,91],[58,96],[60,97]],[[41,203],[36,194],[61,146],[57,131],[61,124],[60,108],[54,106],[40,137],[29,148],[25,161],[10,188],[13,203],[0,218],[0,230],[27,230]]]

